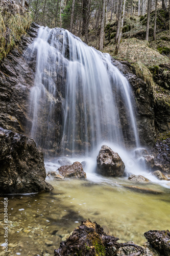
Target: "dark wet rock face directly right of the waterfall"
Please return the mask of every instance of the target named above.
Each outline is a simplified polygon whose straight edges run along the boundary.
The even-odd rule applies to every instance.
[[[137,106],[136,122],[140,143],[142,146],[153,147],[155,142],[156,116],[154,113],[154,97],[151,88],[132,72],[132,66],[128,61],[119,62],[112,59],[112,63],[125,75],[131,84],[135,99],[134,104]]]

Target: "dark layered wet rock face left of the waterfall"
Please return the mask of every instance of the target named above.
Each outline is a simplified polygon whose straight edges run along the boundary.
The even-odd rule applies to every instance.
[[[0,63],[0,126],[21,134],[28,134],[32,126],[27,112],[35,66],[34,61],[29,66],[22,54],[37,36],[38,28],[34,24],[28,35],[22,36],[19,46]]]

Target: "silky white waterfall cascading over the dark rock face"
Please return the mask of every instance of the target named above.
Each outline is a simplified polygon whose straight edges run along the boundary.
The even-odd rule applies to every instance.
[[[67,30],[41,27],[27,49],[35,63],[29,116],[37,145],[89,155],[101,143],[139,145],[130,84],[109,54]]]

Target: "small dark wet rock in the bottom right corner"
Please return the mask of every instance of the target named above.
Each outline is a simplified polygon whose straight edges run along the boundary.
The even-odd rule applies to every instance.
[[[170,255],[170,232],[169,230],[150,230],[144,233],[144,237],[150,245],[160,252],[161,255]]]

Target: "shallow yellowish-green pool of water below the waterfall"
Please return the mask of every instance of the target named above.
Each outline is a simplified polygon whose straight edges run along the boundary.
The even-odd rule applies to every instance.
[[[109,182],[108,182],[109,181]],[[48,179],[51,192],[8,197],[8,253],[0,255],[54,255],[54,249],[82,220],[90,219],[120,241],[145,242],[143,233],[169,228],[170,189],[159,185],[140,185],[156,194],[127,189],[125,179],[100,183],[88,180]],[[150,191],[150,190],[149,190]],[[1,220],[4,219],[1,198]],[[1,221],[1,244],[4,221]]]

